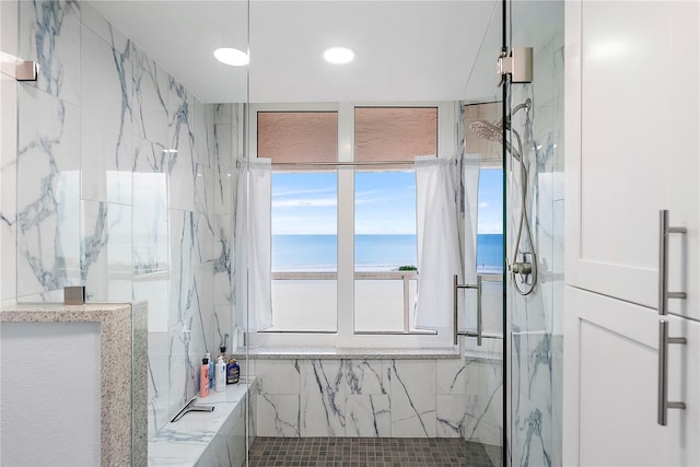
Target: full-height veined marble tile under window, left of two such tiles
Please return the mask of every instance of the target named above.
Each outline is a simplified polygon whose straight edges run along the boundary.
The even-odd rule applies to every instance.
[[[302,436],[343,436],[346,384],[341,360],[300,362]]]

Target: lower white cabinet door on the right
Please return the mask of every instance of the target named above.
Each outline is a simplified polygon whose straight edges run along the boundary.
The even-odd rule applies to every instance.
[[[568,466],[700,465],[700,324],[670,316],[666,427],[657,424],[658,322],[649,308],[564,292],[563,458]]]

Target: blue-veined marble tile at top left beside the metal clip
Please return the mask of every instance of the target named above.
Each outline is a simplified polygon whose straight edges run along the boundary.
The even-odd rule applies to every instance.
[[[27,85],[80,105],[80,3],[19,3],[20,57],[39,65],[37,81]]]

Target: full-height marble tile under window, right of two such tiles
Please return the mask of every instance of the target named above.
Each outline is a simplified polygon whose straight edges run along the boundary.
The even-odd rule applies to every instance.
[[[435,361],[395,360],[392,367],[392,436],[435,436]]]

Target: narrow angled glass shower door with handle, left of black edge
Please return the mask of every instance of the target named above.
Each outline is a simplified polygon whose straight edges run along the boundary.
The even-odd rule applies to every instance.
[[[466,465],[500,466],[506,452],[503,336],[504,306],[504,106],[506,87],[494,72],[504,46],[504,7],[492,5],[460,106],[464,155],[477,156],[479,164],[478,220],[476,229],[476,276],[480,281],[481,303],[475,291],[463,290],[459,330],[463,338],[465,387],[464,437]],[[465,186],[465,189],[468,189]],[[469,238],[465,238],[467,243]],[[465,262],[465,277],[470,265]],[[477,316],[480,313],[480,319]],[[481,338],[479,339],[480,336]],[[439,396],[440,397],[440,396]],[[439,413],[440,419],[440,413]],[[482,464],[483,463],[483,464]]]

